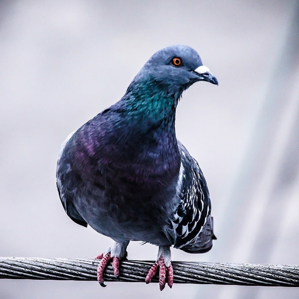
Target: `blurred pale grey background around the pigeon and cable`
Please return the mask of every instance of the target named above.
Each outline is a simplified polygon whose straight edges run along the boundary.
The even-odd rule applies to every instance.
[[[55,185],[66,136],[118,101],[158,49],[187,44],[218,78],[183,95],[177,137],[206,176],[218,240],[182,261],[299,264],[299,2],[0,1],[0,256],[94,258]],[[157,248],[133,242],[129,259]],[[298,289],[0,281],[1,299],[289,298]]]

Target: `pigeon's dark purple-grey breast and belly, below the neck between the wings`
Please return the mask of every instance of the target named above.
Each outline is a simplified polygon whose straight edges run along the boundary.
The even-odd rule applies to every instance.
[[[70,139],[61,159],[70,165],[65,183],[76,189],[72,204],[92,228],[116,241],[173,243],[165,232],[178,204],[175,154],[152,145],[131,154],[111,149],[86,132]]]

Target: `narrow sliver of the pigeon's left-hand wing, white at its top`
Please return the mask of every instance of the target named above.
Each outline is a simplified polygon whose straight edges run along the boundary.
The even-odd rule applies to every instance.
[[[60,154],[57,162],[56,184],[59,197],[67,215],[77,224],[87,227],[86,221],[81,217],[71,198],[76,196],[76,190],[80,187],[80,182],[73,185],[71,163],[68,161],[67,144],[75,132],[71,133],[61,145]],[[79,178],[78,178],[79,180]]]

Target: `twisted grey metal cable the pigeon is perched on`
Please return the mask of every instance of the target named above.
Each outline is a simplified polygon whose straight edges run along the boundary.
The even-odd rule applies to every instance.
[[[124,261],[117,279],[111,266],[106,281],[145,282],[154,262]],[[0,257],[0,279],[96,281],[99,260]],[[172,262],[174,283],[299,287],[299,265]],[[152,282],[157,282],[154,278]]]

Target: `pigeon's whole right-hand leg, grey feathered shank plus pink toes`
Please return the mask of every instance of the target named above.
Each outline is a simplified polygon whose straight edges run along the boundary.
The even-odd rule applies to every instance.
[[[146,277],[146,283],[149,284],[153,276],[159,269],[159,287],[162,291],[166,284],[166,272],[167,272],[167,285],[172,288],[173,285],[173,269],[171,265],[171,252],[170,246],[159,246],[158,256],[156,262],[149,269],[149,273]]]

